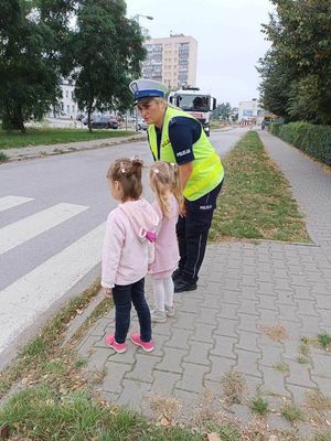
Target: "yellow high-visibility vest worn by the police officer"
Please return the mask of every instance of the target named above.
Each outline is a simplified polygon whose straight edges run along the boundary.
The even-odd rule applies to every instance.
[[[177,162],[175,155],[169,139],[169,122],[173,117],[193,118],[190,114],[168,106],[162,127],[162,136],[160,143],[160,158],[158,158],[158,141],[156,128],[153,125],[148,127],[148,138],[153,157],[161,161]],[[223,180],[224,170],[218,154],[207,139],[203,128],[201,136],[193,144],[194,160],[192,161],[192,174],[183,191],[184,196],[189,201],[195,201],[210,191],[214,190]]]

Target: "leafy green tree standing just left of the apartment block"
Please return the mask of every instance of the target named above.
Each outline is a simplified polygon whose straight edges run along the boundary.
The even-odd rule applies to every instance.
[[[126,110],[132,96],[129,83],[140,74],[146,56],[143,35],[136,20],[126,17],[124,0],[82,0],[72,35],[72,78],[88,128],[93,111]]]

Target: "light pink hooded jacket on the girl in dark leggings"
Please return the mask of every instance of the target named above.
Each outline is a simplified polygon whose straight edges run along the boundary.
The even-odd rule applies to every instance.
[[[159,217],[143,198],[119,204],[107,218],[102,286],[130,284],[142,279],[153,260],[153,233]]]

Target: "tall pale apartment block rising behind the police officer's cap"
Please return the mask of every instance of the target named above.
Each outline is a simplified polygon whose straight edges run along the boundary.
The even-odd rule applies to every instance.
[[[195,86],[197,41],[183,34],[151,39],[145,43],[147,58],[143,78],[161,82],[169,88]]]

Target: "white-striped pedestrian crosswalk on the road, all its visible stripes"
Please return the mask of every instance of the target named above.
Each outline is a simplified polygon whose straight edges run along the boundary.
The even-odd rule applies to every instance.
[[[0,211],[14,209],[32,201],[21,196],[0,197]],[[52,234],[53,227],[88,208],[60,203],[0,228],[0,256],[41,234]],[[39,315],[98,265],[104,233],[105,223],[102,223],[0,292],[0,356]]]

